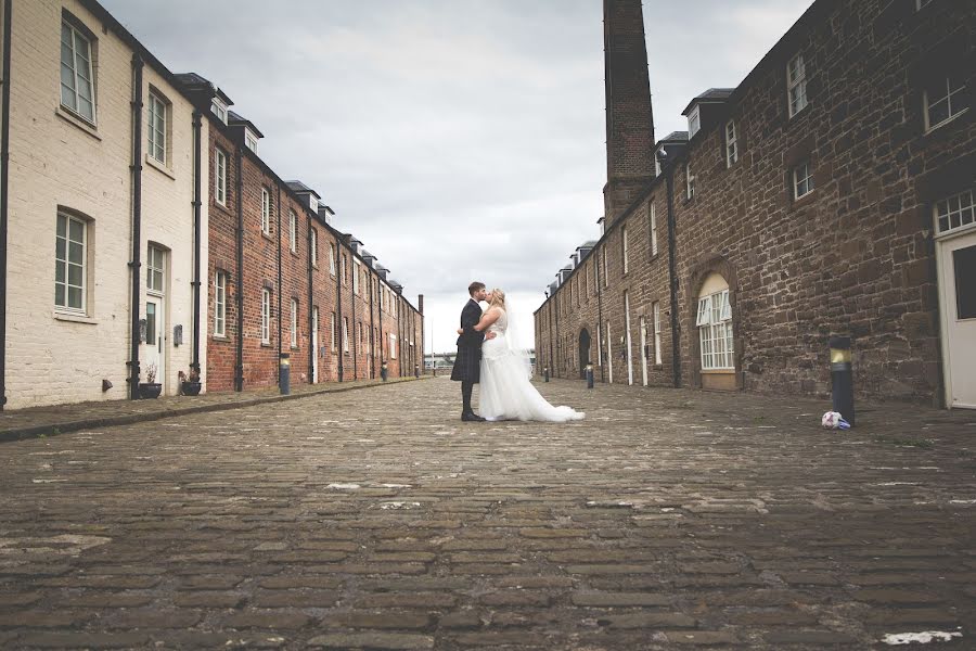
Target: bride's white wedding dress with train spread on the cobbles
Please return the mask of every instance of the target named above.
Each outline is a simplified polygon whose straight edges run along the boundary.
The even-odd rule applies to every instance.
[[[488,327],[495,339],[481,344],[481,379],[478,388],[481,417],[489,421],[521,420],[564,423],[586,416],[570,407],[553,407],[529,381],[528,358],[505,341],[509,316],[501,310]]]

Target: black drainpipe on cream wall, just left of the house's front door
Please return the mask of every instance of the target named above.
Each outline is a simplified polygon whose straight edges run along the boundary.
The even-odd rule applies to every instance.
[[[5,47],[5,44],[4,44]],[[129,354],[129,399],[139,398],[139,315],[140,285],[142,278],[142,58],[132,54],[132,304],[131,315],[131,350]],[[5,195],[5,193],[4,193]]]

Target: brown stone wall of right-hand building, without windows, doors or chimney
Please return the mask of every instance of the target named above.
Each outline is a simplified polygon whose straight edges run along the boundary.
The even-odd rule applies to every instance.
[[[846,335],[859,395],[942,405],[933,206],[973,188],[976,126],[969,107],[928,129],[924,92],[950,74],[973,88],[974,24],[972,3],[916,11],[911,0],[818,0],[728,102],[703,111],[702,129],[644,187],[643,202],[608,219],[586,261],[536,312],[540,370],[579,376],[582,329],[593,336],[595,363],[602,310],[598,380],[609,380],[612,365],[613,381],[628,382],[632,359],[640,384],[639,320],[658,302],[664,355],[648,365],[648,384],[675,384],[675,341],[679,384],[716,386],[702,373],[696,315],[703,284],[718,273],[729,285],[734,332],[734,369],[719,383],[725,388],[826,396],[829,340]],[[791,117],[786,69],[797,54],[809,103]],[[739,150],[731,165],[729,120]],[[793,170],[804,163],[814,189],[795,199]],[[601,293],[580,292],[591,268],[603,271],[604,255]],[[646,354],[653,360],[653,349]]]

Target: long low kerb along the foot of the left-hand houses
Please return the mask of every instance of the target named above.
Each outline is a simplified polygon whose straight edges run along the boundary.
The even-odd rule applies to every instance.
[[[41,438],[47,436],[56,436],[59,434],[67,434],[68,432],[78,432],[79,430],[88,430],[93,427],[110,427],[114,425],[131,425],[133,423],[163,420],[164,418],[174,418],[177,416],[188,416],[191,413],[204,413],[208,411],[227,411],[241,407],[254,407],[255,405],[266,405],[269,403],[283,403],[285,400],[297,400],[299,398],[310,398],[321,396],[329,393],[342,393],[346,391],[356,391],[359,388],[373,388],[376,386],[389,386],[401,382],[414,382],[416,380],[428,380],[428,375],[420,378],[390,378],[387,382],[373,382],[370,384],[343,385],[331,384],[320,391],[309,391],[303,393],[290,394],[286,396],[262,396],[258,398],[249,398],[243,400],[232,400],[228,403],[215,403],[210,405],[197,405],[195,407],[179,407],[176,409],[165,409],[159,411],[147,411],[145,413],[127,413],[124,416],[110,416],[104,418],[87,418],[76,421],[48,422],[40,425],[31,425],[28,427],[10,429],[0,432],[0,443],[10,443],[14,441],[25,441],[28,438]]]

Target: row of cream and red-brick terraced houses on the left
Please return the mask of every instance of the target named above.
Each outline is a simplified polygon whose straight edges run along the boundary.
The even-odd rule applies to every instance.
[[[150,373],[164,395],[193,371],[204,391],[271,386],[282,354],[292,383],[376,378],[380,329],[422,329],[400,285],[381,316],[387,271],[262,162],[262,135],[216,86],[174,75],[95,0],[10,5],[5,408],[134,397]],[[344,320],[363,324],[348,352],[330,346]],[[397,374],[422,362],[396,352]]]

